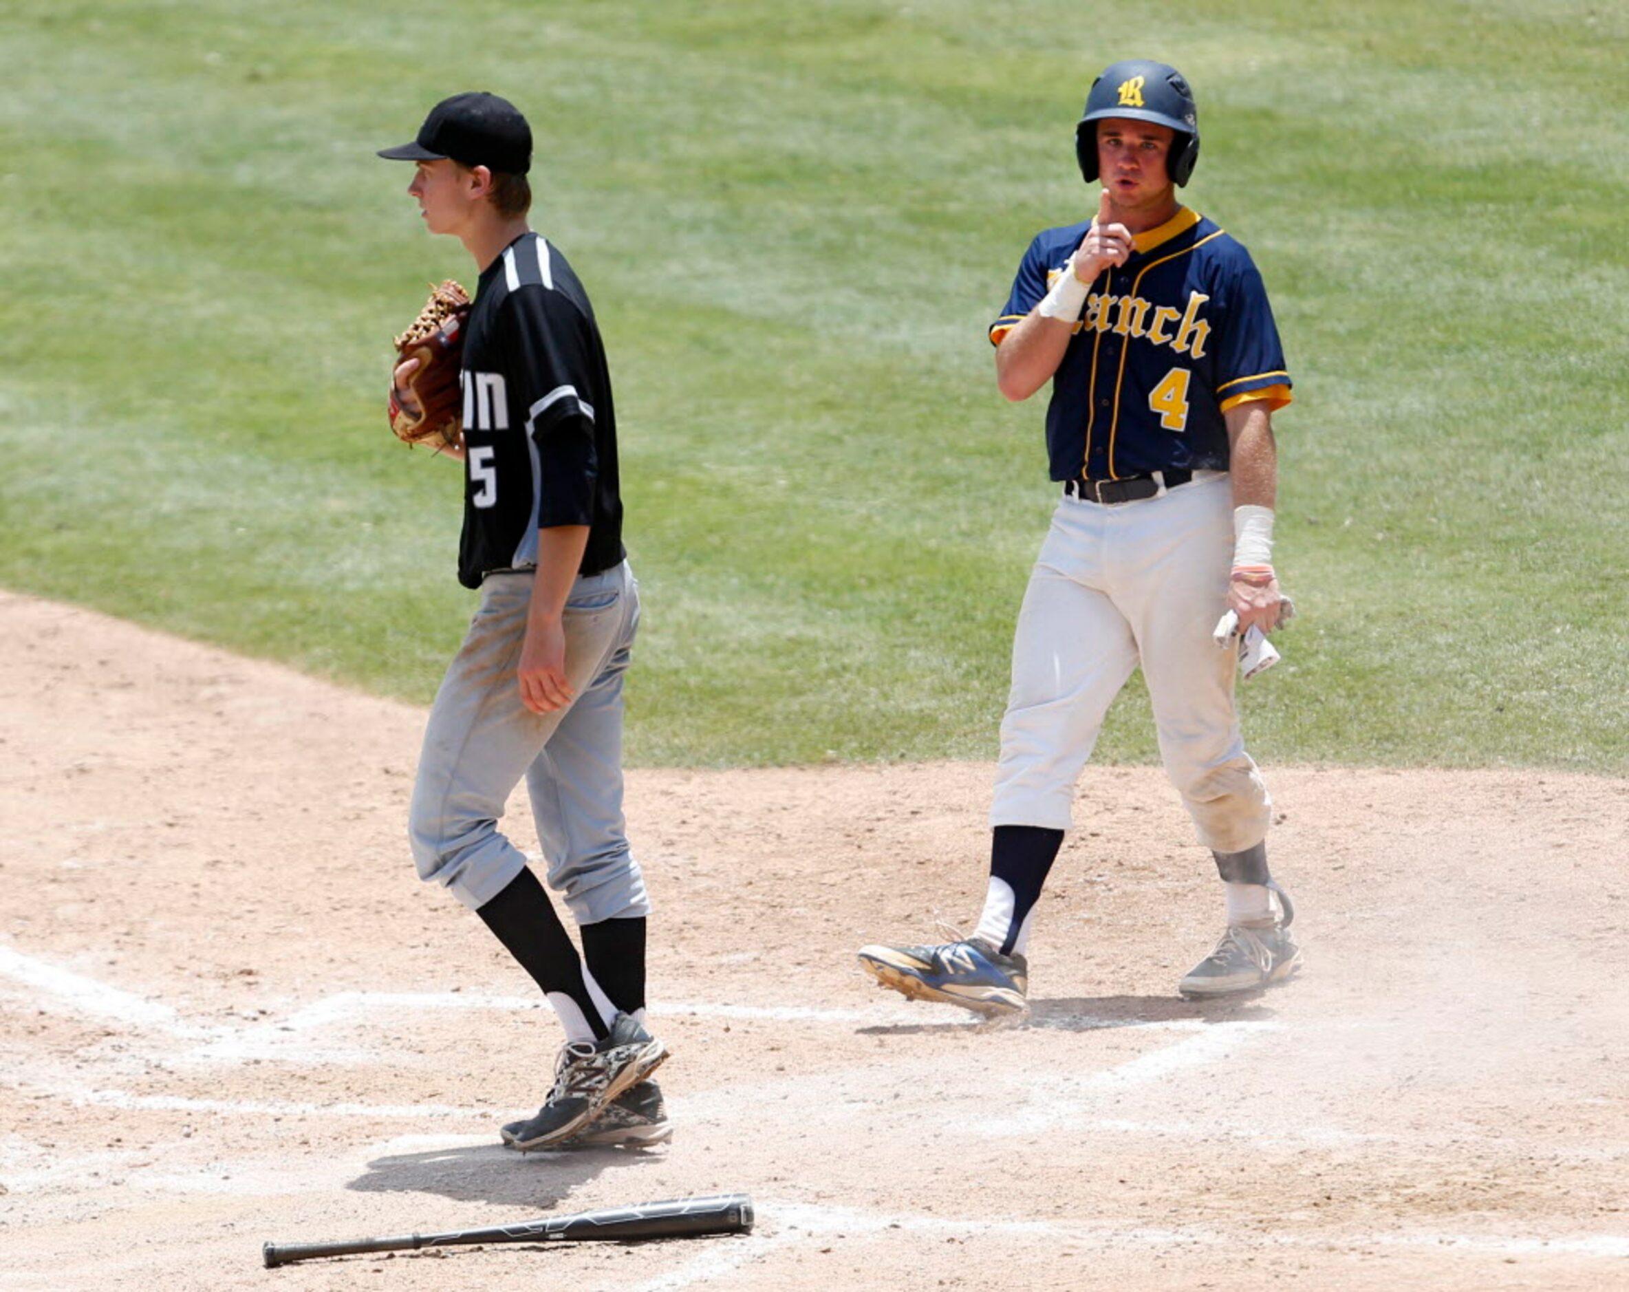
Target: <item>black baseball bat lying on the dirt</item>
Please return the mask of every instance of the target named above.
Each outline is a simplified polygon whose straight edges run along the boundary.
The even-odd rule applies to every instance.
[[[407,1233],[399,1238],[344,1238],[331,1243],[267,1243],[266,1268],[314,1256],[353,1256],[362,1251],[417,1251],[425,1246],[474,1246],[477,1243],[582,1243],[611,1240],[635,1243],[648,1238],[699,1238],[705,1233],[751,1233],[753,1199],[744,1193],[717,1198],[679,1198],[604,1207],[572,1215],[549,1215],[515,1225],[464,1228],[450,1233]]]

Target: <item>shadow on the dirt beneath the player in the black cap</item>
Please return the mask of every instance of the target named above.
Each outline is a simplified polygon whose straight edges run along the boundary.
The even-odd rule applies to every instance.
[[[357,1193],[433,1193],[456,1202],[552,1207],[606,1170],[640,1170],[660,1152],[578,1149],[518,1154],[502,1144],[472,1144],[393,1154],[368,1163],[345,1188]]]

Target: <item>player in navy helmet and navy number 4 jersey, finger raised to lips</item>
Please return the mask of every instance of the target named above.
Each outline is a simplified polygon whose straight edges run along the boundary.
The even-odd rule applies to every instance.
[[[1256,991],[1302,963],[1267,870],[1267,790],[1233,707],[1238,653],[1215,639],[1220,621],[1243,634],[1287,617],[1272,569],[1284,350],[1249,254],[1176,197],[1199,121],[1175,68],[1109,67],[1075,150],[1101,184],[1096,218],[1030,243],[990,326],[1002,394],[1052,383],[1046,445],[1062,497],[1018,613],[984,912],[963,942],[860,951],[885,986],[987,1015],[1026,1009],[1030,925],[1075,780],[1139,665],[1166,774],[1227,903],[1227,932],[1178,989]]]

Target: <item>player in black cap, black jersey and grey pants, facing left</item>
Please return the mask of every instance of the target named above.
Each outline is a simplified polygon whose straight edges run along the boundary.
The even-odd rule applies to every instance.
[[[622,549],[616,407],[577,274],[526,217],[531,129],[495,94],[437,104],[407,192],[481,270],[463,342],[464,528],[458,577],[481,591],[424,735],[409,837],[422,878],[476,911],[565,1028],[554,1087],[503,1127],[518,1149],[668,1136],[643,1026],[650,904],[622,821],[622,676],[639,590]],[[397,368],[394,396],[409,360]],[[549,885],[498,831],[526,779]],[[586,960],[586,966],[583,963]]]

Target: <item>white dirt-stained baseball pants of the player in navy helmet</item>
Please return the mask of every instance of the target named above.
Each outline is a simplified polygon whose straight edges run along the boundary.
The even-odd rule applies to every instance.
[[[1075,780],[1140,663],[1199,841],[1243,852],[1266,837],[1272,803],[1233,709],[1238,657],[1212,640],[1232,562],[1225,472],[1114,507],[1059,500],[1018,613],[992,826],[1070,828]]]

